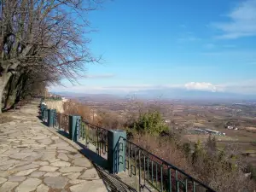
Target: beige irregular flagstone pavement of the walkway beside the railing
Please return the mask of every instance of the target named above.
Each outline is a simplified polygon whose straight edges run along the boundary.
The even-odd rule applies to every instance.
[[[90,160],[41,124],[37,105],[0,124],[0,192],[108,191]]]

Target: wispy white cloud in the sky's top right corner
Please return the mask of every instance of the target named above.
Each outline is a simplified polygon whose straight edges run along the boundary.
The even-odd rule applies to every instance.
[[[226,16],[230,21],[211,25],[223,33],[217,38],[241,38],[256,35],[256,0],[238,3],[236,8]]]

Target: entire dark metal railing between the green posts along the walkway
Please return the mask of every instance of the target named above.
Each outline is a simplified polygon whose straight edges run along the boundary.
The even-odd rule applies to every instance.
[[[71,116],[72,117],[72,116]],[[48,110],[42,111],[42,119],[48,122]],[[70,116],[63,113],[54,114],[55,128],[63,130],[68,134]],[[108,157],[108,130],[92,125],[84,119],[77,119],[75,129],[78,131],[78,140],[87,146],[90,143],[96,148],[96,153],[104,158]],[[113,142],[113,141],[112,141]],[[119,160],[125,160],[125,172],[130,177],[136,177],[139,191],[185,191],[185,192],[213,192],[201,181],[189,176],[189,174],[178,169],[176,166],[162,160],[160,157],[148,152],[146,149],[132,143],[125,137],[119,137],[117,147]],[[111,148],[109,149],[111,150]],[[120,151],[125,150],[121,155]],[[121,163],[124,163],[123,161]]]

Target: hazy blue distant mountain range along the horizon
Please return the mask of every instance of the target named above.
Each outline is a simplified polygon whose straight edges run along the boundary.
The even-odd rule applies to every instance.
[[[256,95],[243,95],[227,92],[211,92],[203,90],[186,90],[182,88],[168,88],[155,90],[139,90],[129,93],[119,92],[116,94],[86,94],[71,92],[55,92],[55,94],[78,98],[86,97],[87,99],[113,100],[114,98],[124,99],[125,97],[135,96],[138,99],[175,99],[175,100],[229,100],[229,101],[256,101]]]

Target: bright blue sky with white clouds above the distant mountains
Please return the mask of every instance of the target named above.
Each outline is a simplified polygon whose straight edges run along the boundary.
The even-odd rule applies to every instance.
[[[104,61],[50,90],[256,93],[256,0],[113,0],[89,20],[90,50]]]

